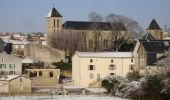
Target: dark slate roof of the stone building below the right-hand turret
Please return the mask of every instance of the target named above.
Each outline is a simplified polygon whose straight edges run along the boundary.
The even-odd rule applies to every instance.
[[[163,53],[170,48],[170,40],[140,40],[146,52]]]

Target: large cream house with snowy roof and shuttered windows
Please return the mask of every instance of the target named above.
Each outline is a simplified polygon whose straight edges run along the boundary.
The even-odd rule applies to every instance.
[[[133,70],[130,52],[76,52],[72,57],[74,85],[89,87],[109,74],[126,76]]]

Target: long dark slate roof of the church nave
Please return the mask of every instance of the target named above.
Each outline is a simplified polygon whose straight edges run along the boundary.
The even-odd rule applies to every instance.
[[[115,27],[114,27],[115,26]],[[63,29],[74,30],[127,30],[122,23],[108,23],[108,22],[86,22],[86,21],[66,21],[62,25]]]

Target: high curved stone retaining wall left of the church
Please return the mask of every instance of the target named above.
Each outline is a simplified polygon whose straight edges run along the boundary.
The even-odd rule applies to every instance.
[[[54,49],[46,45],[29,43],[25,45],[24,56],[29,56],[45,63],[53,63],[64,60],[65,53],[61,50]]]

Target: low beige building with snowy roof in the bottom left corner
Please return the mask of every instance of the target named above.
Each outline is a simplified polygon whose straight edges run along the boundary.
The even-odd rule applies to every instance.
[[[31,80],[19,75],[0,77],[0,93],[31,93]]]

